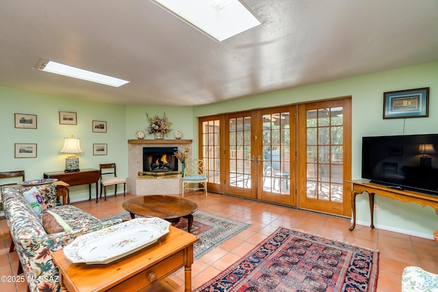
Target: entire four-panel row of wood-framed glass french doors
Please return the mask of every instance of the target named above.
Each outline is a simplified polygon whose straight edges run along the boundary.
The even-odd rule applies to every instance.
[[[350,108],[343,98],[199,118],[208,189],[350,215]]]

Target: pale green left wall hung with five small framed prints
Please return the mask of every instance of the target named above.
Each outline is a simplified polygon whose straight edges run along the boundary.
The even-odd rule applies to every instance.
[[[42,178],[44,172],[64,170],[67,154],[60,153],[64,137],[81,139],[80,168],[99,169],[99,163],[117,163],[127,173],[125,107],[107,103],[48,96],[12,88],[0,88],[0,171],[25,170],[27,180]],[[60,124],[59,111],[77,113],[77,125]],[[14,113],[37,116],[37,129],[16,129]],[[107,133],[93,133],[92,121],[107,121]],[[121,141],[125,143],[121,143]],[[37,144],[36,158],[14,158],[15,143]],[[107,144],[107,155],[94,156],[93,144]],[[95,189],[92,187],[92,197]],[[73,202],[88,199],[88,186],[70,188]]]

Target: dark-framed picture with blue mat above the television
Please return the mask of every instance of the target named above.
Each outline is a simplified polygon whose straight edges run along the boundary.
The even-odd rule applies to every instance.
[[[429,116],[429,88],[383,93],[383,118],[420,118]]]

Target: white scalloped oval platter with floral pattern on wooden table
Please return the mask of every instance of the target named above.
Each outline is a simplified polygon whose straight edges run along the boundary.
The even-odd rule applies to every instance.
[[[64,247],[64,255],[72,263],[111,263],[155,243],[169,226],[157,217],[136,218],[77,237]]]

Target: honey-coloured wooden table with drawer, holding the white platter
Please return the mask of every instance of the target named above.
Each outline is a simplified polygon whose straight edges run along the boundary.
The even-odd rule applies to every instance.
[[[169,233],[138,252],[106,265],[70,263],[64,250],[52,253],[61,291],[144,291],[185,267],[185,292],[192,291],[193,243],[198,237],[169,226]]]

